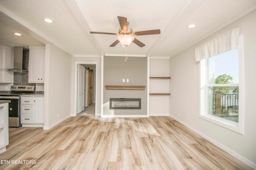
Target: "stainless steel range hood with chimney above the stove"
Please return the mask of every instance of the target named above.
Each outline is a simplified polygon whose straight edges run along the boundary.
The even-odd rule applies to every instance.
[[[25,47],[14,47],[13,68],[7,69],[10,72],[28,73],[29,49]]]

